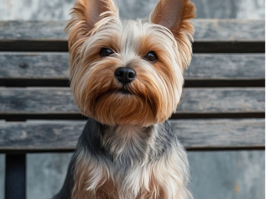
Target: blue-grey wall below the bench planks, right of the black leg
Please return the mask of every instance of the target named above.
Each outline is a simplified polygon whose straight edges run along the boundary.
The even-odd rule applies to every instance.
[[[65,178],[71,154],[27,155],[27,199],[47,199]],[[194,199],[265,198],[264,151],[189,152]]]

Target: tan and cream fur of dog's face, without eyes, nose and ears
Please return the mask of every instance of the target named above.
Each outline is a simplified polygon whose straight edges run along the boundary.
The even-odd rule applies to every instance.
[[[113,18],[107,18],[113,20]],[[102,19],[99,23],[102,24],[104,21],[105,19]],[[82,114],[93,117],[103,124],[150,126],[164,122],[176,110],[184,80],[182,70],[177,65],[180,61],[176,56],[178,51],[175,49],[171,34],[161,27],[132,21],[130,25],[142,28],[141,34],[148,34],[152,38],[152,40],[145,41],[146,44],[149,43],[146,53],[153,50],[159,59],[156,63],[148,63],[142,57],[142,52],[144,52],[141,49],[142,39],[136,41],[136,46],[131,46],[134,50],[131,54],[124,55],[127,53],[123,52],[127,47],[123,46],[126,45],[124,43],[126,40],[119,41],[118,35],[121,37],[123,34],[126,37],[127,30],[116,29],[121,26],[120,23],[117,19],[95,30],[99,31],[98,34],[105,34],[105,41],[97,40],[97,38],[93,41],[93,36],[91,36],[86,41],[83,38],[80,39],[84,44],[76,42],[82,46],[79,50],[76,49],[76,44],[70,46],[71,88],[76,103]],[[108,27],[108,32],[101,32],[103,28],[105,30]],[[165,34],[163,38],[161,32]],[[139,38],[138,36],[133,35],[132,40]],[[154,41],[167,41],[167,43],[162,45]],[[98,52],[101,47],[107,45],[113,46],[116,54],[112,57],[101,58]],[[166,52],[166,47],[173,49],[173,54]],[[132,96],[117,94],[121,85],[114,77],[114,70],[121,66],[130,66],[137,73],[132,84],[126,85]]]

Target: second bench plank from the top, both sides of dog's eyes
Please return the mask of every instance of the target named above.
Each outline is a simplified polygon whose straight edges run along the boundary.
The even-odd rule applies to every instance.
[[[0,52],[0,78],[68,79],[68,53]],[[186,80],[265,79],[265,54],[196,53]]]

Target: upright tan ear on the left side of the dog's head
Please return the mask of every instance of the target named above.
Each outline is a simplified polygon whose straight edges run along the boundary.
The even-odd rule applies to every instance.
[[[65,32],[72,28],[69,37],[69,47],[82,37],[88,36],[95,24],[106,17],[119,18],[118,8],[113,0],[76,0],[70,13]]]

